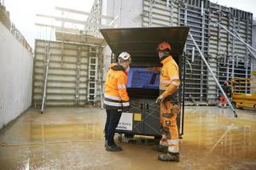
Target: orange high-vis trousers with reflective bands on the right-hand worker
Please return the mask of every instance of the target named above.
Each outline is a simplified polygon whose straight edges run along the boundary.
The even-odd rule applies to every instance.
[[[168,152],[178,153],[177,113],[179,107],[171,101],[160,103],[160,125],[162,139],[160,144],[168,146]]]

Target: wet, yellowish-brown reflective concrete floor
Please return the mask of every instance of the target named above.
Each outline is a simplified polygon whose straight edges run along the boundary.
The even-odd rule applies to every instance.
[[[187,107],[180,162],[161,162],[152,144],[103,147],[105,112],[29,109],[0,131],[0,169],[256,169],[256,112]]]

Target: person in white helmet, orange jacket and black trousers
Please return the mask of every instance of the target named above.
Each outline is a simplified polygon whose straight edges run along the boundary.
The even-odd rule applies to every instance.
[[[114,132],[119,124],[122,112],[130,111],[131,108],[126,91],[131,55],[123,52],[119,54],[118,60],[118,64],[111,64],[109,67],[104,92],[104,108],[107,112],[105,148],[108,151],[122,150],[120,146],[114,143]]]

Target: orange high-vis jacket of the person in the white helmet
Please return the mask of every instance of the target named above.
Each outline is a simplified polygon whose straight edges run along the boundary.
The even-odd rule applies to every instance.
[[[126,91],[128,82],[122,65],[111,64],[106,77],[104,92],[104,107],[108,110],[119,110],[130,107],[129,96]]]

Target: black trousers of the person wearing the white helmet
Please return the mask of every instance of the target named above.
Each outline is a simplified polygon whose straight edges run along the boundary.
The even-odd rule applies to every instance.
[[[105,139],[108,141],[108,145],[113,145],[114,131],[119,124],[122,111],[106,110],[106,112],[107,112],[107,120],[105,124]]]

